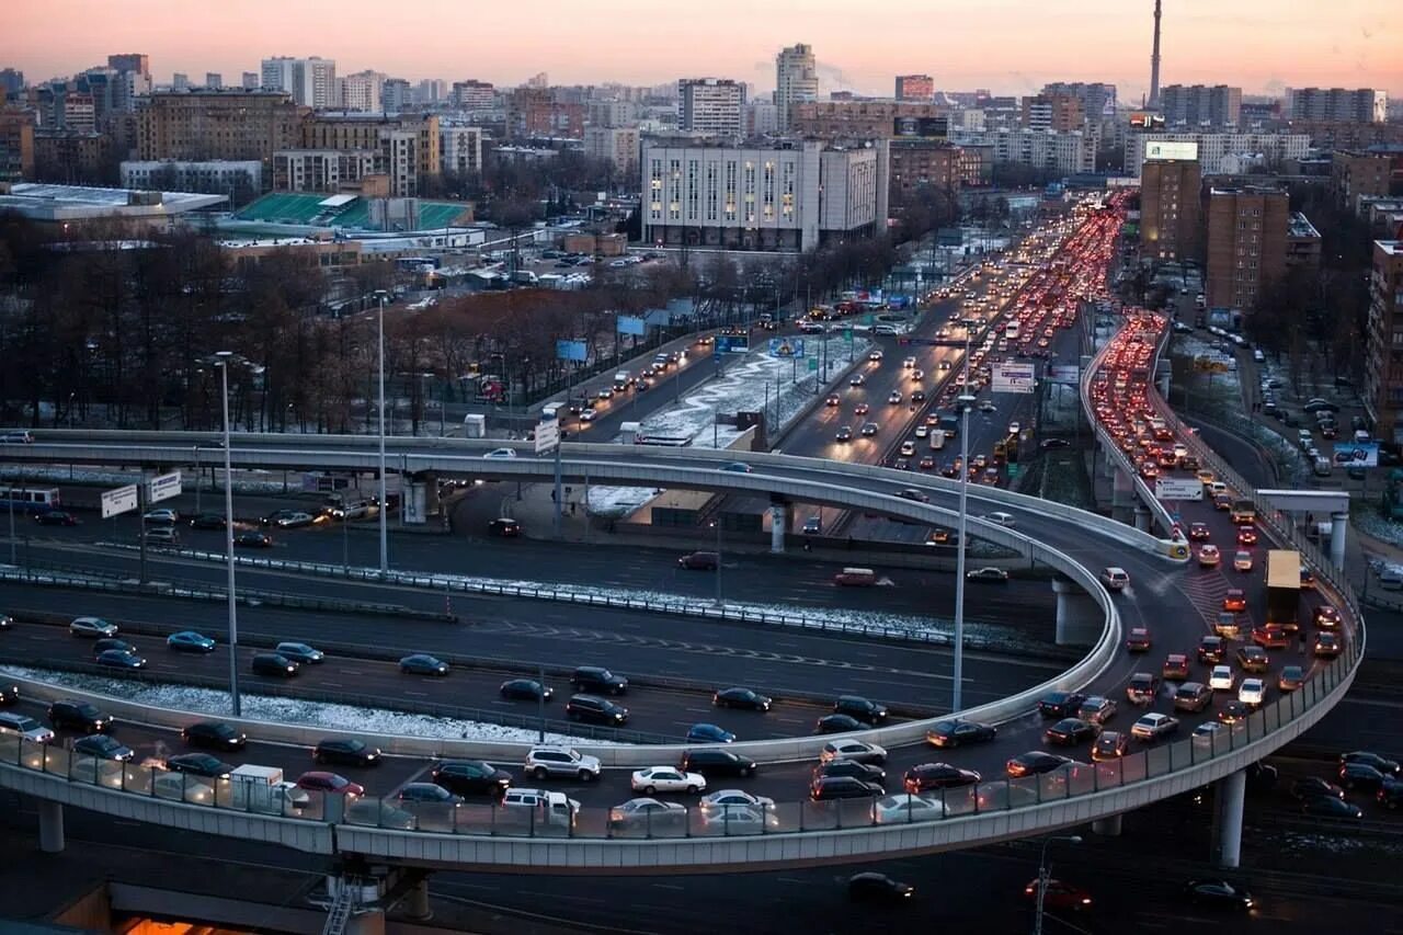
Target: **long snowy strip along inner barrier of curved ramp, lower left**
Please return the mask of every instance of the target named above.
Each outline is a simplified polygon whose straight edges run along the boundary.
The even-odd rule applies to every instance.
[[[209,688],[191,688],[188,685],[146,685],[129,682],[118,678],[102,678],[98,675],[80,675],[74,672],[22,668],[6,665],[3,671],[32,678],[52,685],[63,685],[84,692],[95,692],[119,698],[136,705],[150,705],[152,708],[168,708],[173,710],[202,712],[206,715],[227,715],[229,694]],[[473,720],[455,720],[452,717],[434,717],[431,715],[411,715],[397,710],[382,710],[376,708],[356,708],[354,705],[328,705],[323,702],[303,701],[297,698],[269,698],[267,695],[244,694],[244,717],[248,720],[264,720],[283,724],[316,724],[331,730],[355,730],[373,734],[401,734],[405,737],[442,737],[445,740],[483,740],[483,741],[511,741],[536,743],[537,733],[522,727],[504,727],[501,724],[484,724]],[[570,737],[565,734],[546,733],[547,744],[589,744],[596,747],[615,745],[612,741],[586,737]]]

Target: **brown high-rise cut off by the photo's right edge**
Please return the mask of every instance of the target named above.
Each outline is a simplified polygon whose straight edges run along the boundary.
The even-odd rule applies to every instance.
[[[1362,399],[1374,435],[1403,442],[1403,240],[1374,241]]]

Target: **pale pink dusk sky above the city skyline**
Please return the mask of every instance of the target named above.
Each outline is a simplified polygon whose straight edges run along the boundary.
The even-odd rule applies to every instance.
[[[1403,21],[1385,0],[1164,0],[1162,83],[1382,87],[1403,95]],[[31,81],[112,52],[146,52],[157,81],[237,83],[274,55],[337,73],[418,80],[661,84],[720,76],[774,84],[774,53],[807,42],[822,90],[891,94],[897,73],[950,90],[1026,94],[1049,80],[1149,84],[1152,0],[11,0],[0,66]],[[198,13],[195,13],[198,10]],[[1392,22],[1388,20],[1392,18]]]

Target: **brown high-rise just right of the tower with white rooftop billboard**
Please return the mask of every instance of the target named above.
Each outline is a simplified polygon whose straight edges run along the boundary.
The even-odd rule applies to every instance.
[[[1208,305],[1253,310],[1287,271],[1291,205],[1285,190],[1240,185],[1208,192]]]

